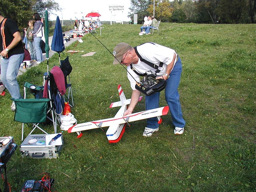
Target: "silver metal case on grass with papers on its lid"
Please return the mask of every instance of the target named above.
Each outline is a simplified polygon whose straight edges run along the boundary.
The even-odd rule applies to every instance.
[[[28,135],[27,138],[20,145],[20,152],[22,157],[31,158],[59,158],[60,151],[63,148],[63,135],[58,138],[61,145],[49,145],[49,137],[56,136],[56,134],[40,134]],[[57,140],[56,140],[57,141]]]

